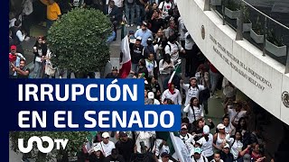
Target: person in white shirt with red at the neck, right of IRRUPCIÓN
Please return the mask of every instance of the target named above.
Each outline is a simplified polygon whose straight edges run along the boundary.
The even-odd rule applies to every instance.
[[[165,98],[171,99],[174,104],[182,104],[181,93],[178,89],[174,88],[173,83],[171,83],[171,88],[169,87],[169,89],[163,91],[162,102]]]

